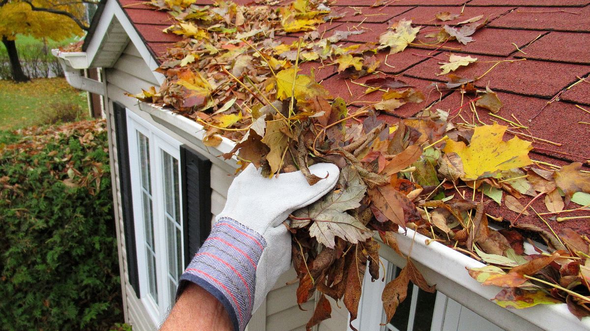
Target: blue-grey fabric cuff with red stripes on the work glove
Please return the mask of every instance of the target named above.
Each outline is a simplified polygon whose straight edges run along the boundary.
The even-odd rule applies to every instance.
[[[176,299],[188,282],[201,286],[221,302],[235,330],[252,317],[258,260],[266,240],[256,231],[223,217],[195,254],[180,279]]]

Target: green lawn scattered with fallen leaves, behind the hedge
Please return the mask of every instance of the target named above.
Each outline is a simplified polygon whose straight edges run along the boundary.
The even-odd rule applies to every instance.
[[[65,78],[40,78],[26,83],[0,80],[0,130],[40,125],[40,113],[58,104],[80,105],[88,113],[86,92],[71,87]]]

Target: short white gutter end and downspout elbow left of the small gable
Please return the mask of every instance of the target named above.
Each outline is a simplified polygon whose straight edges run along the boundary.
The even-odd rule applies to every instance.
[[[90,64],[86,52],[62,52],[59,49],[51,49],[51,54],[57,57],[64,69],[65,80],[78,90],[105,95],[106,84],[84,77],[80,70],[88,69]]]

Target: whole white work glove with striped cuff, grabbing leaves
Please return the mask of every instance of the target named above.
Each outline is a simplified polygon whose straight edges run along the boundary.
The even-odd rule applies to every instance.
[[[290,213],[331,190],[339,169],[321,163],[310,171],[324,178],[310,186],[301,171],[265,178],[253,165],[235,178],[211,234],[181,276],[221,302],[234,329],[244,330],[253,312],[291,265],[291,238],[283,223]]]

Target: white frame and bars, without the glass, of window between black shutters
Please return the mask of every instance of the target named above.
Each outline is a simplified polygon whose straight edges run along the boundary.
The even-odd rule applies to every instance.
[[[178,160],[178,174],[181,176],[180,171],[180,145],[179,141],[176,141],[168,134],[165,134],[162,130],[159,130],[154,125],[148,123],[148,121],[141,118],[134,112],[126,109],[127,111],[127,140],[129,143],[129,163],[130,163],[130,178],[132,186],[132,200],[133,200],[133,217],[135,226],[135,241],[137,251],[137,269],[139,274],[139,291],[140,300],[146,307],[152,322],[155,325],[160,325],[171,309],[173,300],[169,301],[169,298],[173,298],[175,293],[169,293],[168,286],[168,245],[166,242],[166,222],[165,222],[165,197],[163,188],[163,162],[161,152],[165,151],[172,157]],[[153,213],[153,236],[154,236],[154,250],[156,251],[156,279],[158,289],[158,302],[152,299],[149,295],[149,283],[148,274],[146,272],[148,262],[146,259],[145,243],[145,228],[143,220],[143,209],[142,209],[142,196],[140,191],[140,164],[139,164],[139,148],[137,133],[142,133],[149,138],[149,154],[150,154],[150,171],[151,171],[151,185],[152,185],[152,213]],[[179,178],[179,185],[182,178]],[[182,201],[182,190],[178,189],[179,199]],[[179,213],[181,217],[181,225],[184,224],[182,219],[182,213]],[[184,247],[184,236],[183,229],[181,226],[181,240],[182,247]],[[184,254],[184,250],[181,250]],[[184,256],[181,257],[184,260]]]

